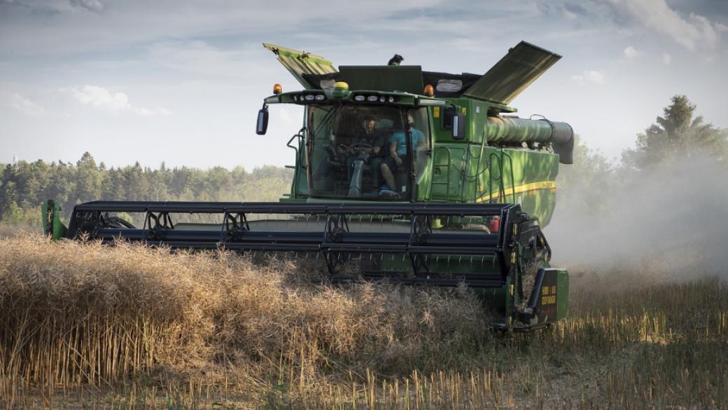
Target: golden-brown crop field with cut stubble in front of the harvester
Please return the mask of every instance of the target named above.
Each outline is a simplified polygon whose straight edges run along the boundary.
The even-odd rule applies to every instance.
[[[290,260],[0,239],[0,409],[724,409],[728,286],[572,270],[497,335],[467,290]]]

